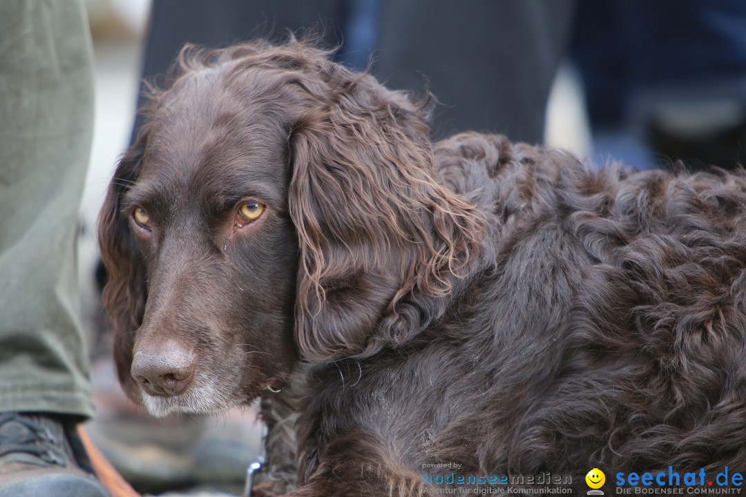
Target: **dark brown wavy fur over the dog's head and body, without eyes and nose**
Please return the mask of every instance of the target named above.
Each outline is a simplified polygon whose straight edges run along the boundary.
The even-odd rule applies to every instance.
[[[151,91],[100,228],[134,396],[134,352],[181,344],[201,376],[151,403],[262,396],[285,473],[263,491],[297,463],[292,496],[417,495],[449,462],[583,491],[592,467],[608,491],[615,472],[746,468],[742,169],[431,143],[426,104],[328,55],[186,48]],[[254,183],[267,212],[231,227]]]

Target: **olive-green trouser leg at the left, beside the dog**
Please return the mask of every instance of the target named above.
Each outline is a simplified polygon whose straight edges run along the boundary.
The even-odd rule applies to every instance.
[[[0,411],[93,415],[75,265],[92,62],[83,1],[0,0]]]

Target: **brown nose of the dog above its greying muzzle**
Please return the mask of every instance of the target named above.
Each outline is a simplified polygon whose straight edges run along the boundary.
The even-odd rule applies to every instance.
[[[145,393],[172,396],[189,386],[195,364],[194,352],[166,341],[137,350],[132,358],[131,374]]]

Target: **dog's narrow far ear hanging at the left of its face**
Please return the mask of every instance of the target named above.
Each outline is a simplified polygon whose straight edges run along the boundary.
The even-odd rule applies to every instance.
[[[104,307],[114,329],[114,361],[119,382],[134,400],[134,380],[130,374],[135,331],[145,311],[145,267],[128,227],[128,214],[122,212],[122,197],[137,180],[142,168],[147,133],[122,156],[101,208],[98,244],[107,270]]]

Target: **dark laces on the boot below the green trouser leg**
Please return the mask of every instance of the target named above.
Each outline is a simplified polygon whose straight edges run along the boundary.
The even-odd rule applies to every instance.
[[[0,458],[8,454],[22,452],[37,456],[46,463],[67,466],[63,440],[59,440],[49,428],[40,425],[32,417],[17,413],[4,413],[0,414],[0,431],[7,422],[16,422],[28,429],[16,436],[9,436],[0,432]]]

